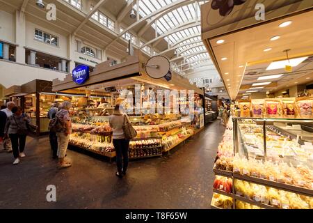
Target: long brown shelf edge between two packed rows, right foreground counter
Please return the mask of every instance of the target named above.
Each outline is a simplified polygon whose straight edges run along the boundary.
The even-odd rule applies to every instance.
[[[260,185],[266,185],[268,187],[274,187],[274,188],[279,189],[279,190],[286,190],[288,192],[293,192],[295,194],[303,194],[305,196],[313,197],[313,190],[306,189],[303,187],[297,187],[297,186],[289,185],[286,183],[278,183],[275,181],[265,180],[262,178],[256,178],[256,177],[252,177],[252,176],[243,176],[241,174],[233,174],[233,176],[235,179],[245,180],[245,181],[248,181],[250,183],[257,183]]]

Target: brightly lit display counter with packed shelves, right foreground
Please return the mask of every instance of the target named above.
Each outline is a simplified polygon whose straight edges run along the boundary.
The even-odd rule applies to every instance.
[[[230,120],[214,164],[211,208],[312,209],[313,132],[305,128],[312,123],[295,118]],[[293,128],[304,131],[303,137],[293,134]]]

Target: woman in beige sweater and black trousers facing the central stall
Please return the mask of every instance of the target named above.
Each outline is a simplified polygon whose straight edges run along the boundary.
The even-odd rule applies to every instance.
[[[113,115],[109,118],[109,123],[113,130],[113,145],[116,151],[116,164],[118,166],[118,171],[115,175],[120,178],[126,175],[129,162],[129,139],[125,139],[125,132],[123,130],[125,119],[129,121],[127,114],[123,112],[122,105],[117,103]]]

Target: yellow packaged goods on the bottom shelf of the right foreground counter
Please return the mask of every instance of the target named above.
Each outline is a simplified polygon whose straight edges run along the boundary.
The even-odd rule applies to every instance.
[[[241,197],[274,206],[275,208],[313,209],[313,197],[248,183],[243,180],[234,180],[234,189],[235,193]]]

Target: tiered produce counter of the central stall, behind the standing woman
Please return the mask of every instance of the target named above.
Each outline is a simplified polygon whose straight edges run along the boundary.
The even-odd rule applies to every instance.
[[[172,148],[182,144],[195,134],[191,120],[179,115],[157,116],[161,124],[154,125],[151,116],[130,117],[137,136],[130,140],[129,159],[157,157],[170,153]],[[179,118],[172,121],[170,118]],[[134,121],[134,123],[133,123]],[[139,125],[150,123],[150,125]],[[84,148],[110,159],[116,156],[112,143],[109,116],[72,117],[70,145]]]

